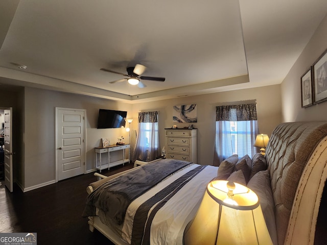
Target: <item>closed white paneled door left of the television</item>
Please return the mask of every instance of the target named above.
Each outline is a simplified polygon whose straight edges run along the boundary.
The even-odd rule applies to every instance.
[[[56,181],[84,173],[85,110],[56,108]]]

